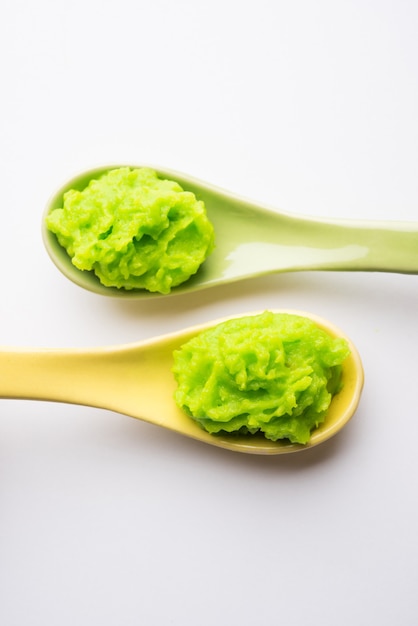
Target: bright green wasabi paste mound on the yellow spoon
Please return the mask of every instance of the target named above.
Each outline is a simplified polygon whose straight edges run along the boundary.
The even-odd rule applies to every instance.
[[[174,352],[175,401],[210,433],[306,444],[342,387],[350,350],[305,317],[229,320]]]

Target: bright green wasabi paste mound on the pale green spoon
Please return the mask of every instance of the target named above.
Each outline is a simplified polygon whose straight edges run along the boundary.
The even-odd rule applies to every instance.
[[[169,293],[214,246],[203,202],[149,168],[110,170],[67,191],[46,226],[78,269],[128,290]]]

